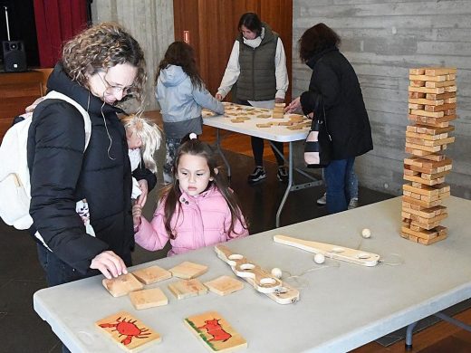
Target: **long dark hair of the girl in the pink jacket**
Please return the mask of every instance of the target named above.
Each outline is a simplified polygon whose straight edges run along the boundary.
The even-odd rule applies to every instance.
[[[178,174],[178,163],[180,157],[183,155],[191,155],[191,156],[199,156],[204,157],[207,160],[207,167],[209,167],[209,172],[211,177],[213,178],[212,181],[209,181],[207,189],[209,189],[212,185],[216,186],[217,190],[221,193],[221,195],[226,199],[227,205],[229,206],[229,210],[231,211],[231,225],[229,229],[226,230],[228,234],[232,234],[234,232],[235,221],[239,220],[239,222],[247,228],[245,223],[245,217],[242,215],[242,211],[240,210],[237,198],[232,190],[227,186],[226,178],[221,175],[221,173],[216,173],[215,169],[217,167],[216,164],[216,154],[207,143],[201,142],[197,138],[189,139],[184,138],[186,142],[184,142],[177,151],[177,156],[175,157],[175,161],[173,164],[173,183],[168,185],[162,190],[162,194],[160,196],[160,202],[165,202],[164,207],[164,224],[165,230],[170,239],[175,239],[178,234],[176,234],[175,229],[172,229],[171,220],[175,212],[178,212],[178,217],[180,216],[181,207],[179,205],[179,198],[181,196],[180,186],[177,178]]]

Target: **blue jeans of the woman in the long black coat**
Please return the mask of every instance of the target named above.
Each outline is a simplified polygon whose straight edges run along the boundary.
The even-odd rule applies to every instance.
[[[324,177],[327,184],[327,211],[330,214],[347,210],[350,202],[349,176],[355,157],[332,160],[324,168]]]

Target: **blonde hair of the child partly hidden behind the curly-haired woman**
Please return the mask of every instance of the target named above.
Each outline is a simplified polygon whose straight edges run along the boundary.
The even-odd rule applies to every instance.
[[[154,159],[154,153],[159,149],[162,141],[162,134],[156,123],[143,118],[138,114],[130,114],[120,118],[124,129],[132,131],[140,140],[140,154],[144,159],[144,166],[152,173],[157,173],[157,165]]]

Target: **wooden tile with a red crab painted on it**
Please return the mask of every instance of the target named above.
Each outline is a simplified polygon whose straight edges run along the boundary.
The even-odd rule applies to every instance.
[[[120,311],[98,320],[95,325],[101,332],[111,337],[120,348],[128,352],[138,352],[161,340],[158,332],[150,329],[149,326],[126,311]]]

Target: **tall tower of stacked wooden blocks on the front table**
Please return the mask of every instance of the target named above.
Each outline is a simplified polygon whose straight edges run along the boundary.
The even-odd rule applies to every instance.
[[[430,244],[447,237],[440,222],[447,218],[442,204],[450,195],[445,176],[451,159],[444,150],[455,141],[449,133],[457,119],[457,69],[421,68],[409,71],[409,125],[406,131],[401,236]]]

